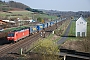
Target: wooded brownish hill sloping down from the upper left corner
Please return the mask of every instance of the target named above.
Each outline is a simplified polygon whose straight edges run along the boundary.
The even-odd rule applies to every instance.
[[[0,11],[22,11],[22,10],[28,10],[31,12],[37,12],[37,13],[43,13],[42,11],[39,11],[37,9],[32,9],[29,6],[15,1],[1,1],[0,0]]]

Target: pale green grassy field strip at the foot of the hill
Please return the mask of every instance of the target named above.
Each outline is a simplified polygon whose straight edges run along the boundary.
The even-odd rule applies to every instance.
[[[33,12],[30,12],[30,11],[10,11],[11,13],[7,13],[7,12],[0,12],[0,16],[5,18],[7,15],[8,19],[9,18],[25,18],[25,17],[28,17],[28,18],[38,18],[38,17],[41,17],[42,19],[44,18],[48,18],[48,19],[56,19],[57,17],[56,16],[48,16],[46,14],[32,14]],[[18,16],[18,14],[22,15],[22,16]],[[17,15],[17,16],[12,16],[12,15]]]

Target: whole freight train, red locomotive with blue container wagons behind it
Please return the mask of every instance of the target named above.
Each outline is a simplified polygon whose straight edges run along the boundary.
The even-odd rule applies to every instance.
[[[43,28],[48,28],[49,26],[53,26],[54,24],[60,22],[59,20],[36,24],[35,26],[29,26],[28,28],[23,28],[20,30],[14,30],[8,33],[7,40],[16,42],[22,38],[30,36],[36,32],[40,32]]]

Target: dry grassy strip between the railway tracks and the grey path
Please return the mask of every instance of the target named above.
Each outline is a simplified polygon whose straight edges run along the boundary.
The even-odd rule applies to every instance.
[[[63,36],[64,32],[66,31],[66,28],[68,27],[70,23],[70,20],[65,21],[62,25],[60,25],[56,30],[54,34],[50,34],[45,39],[52,40],[53,42],[57,42],[60,40],[61,36]]]

